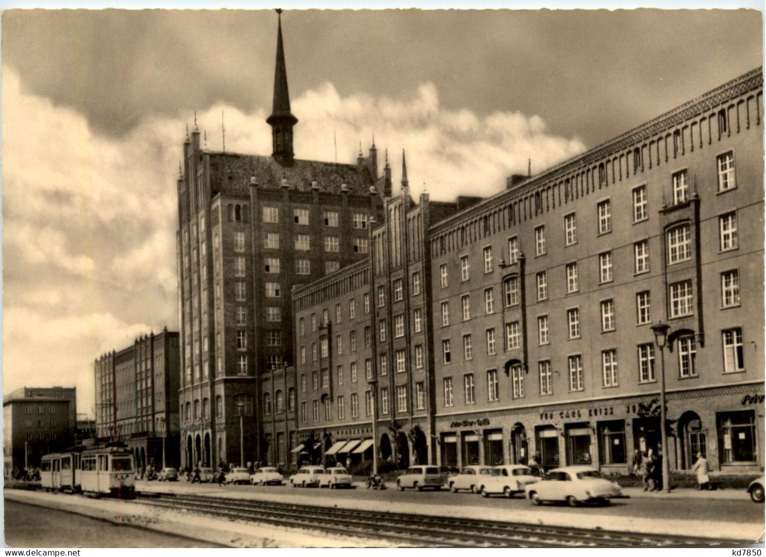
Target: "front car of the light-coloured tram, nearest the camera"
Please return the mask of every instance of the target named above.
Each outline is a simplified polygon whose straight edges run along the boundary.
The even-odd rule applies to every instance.
[[[136,496],[133,453],[123,447],[98,447],[80,455],[80,489],[91,496]]]

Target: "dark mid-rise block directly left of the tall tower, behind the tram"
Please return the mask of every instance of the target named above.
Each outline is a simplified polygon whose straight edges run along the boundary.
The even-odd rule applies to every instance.
[[[180,461],[178,333],[163,329],[94,363],[96,434],[123,441],[136,467],[177,467]]]

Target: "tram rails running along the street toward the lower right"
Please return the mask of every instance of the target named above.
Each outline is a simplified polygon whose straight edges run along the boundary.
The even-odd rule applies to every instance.
[[[206,516],[381,539],[408,547],[709,546],[716,542],[732,545],[732,540],[694,536],[507,523],[215,496],[169,493],[152,493],[149,496],[148,493],[139,493],[137,502],[204,513]]]

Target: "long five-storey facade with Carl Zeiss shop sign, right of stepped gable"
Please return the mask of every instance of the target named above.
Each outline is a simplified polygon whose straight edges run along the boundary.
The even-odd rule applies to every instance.
[[[437,462],[624,473],[653,449],[676,470],[697,452],[762,469],[762,84],[753,70],[430,228]]]

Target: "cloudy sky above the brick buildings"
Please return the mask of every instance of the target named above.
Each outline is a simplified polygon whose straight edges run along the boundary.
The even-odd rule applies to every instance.
[[[175,176],[268,154],[273,11],[2,15],[3,390],[76,385],[178,326]],[[761,64],[757,11],[285,11],[296,156],[375,133],[414,193],[493,194]],[[395,155],[394,155],[395,153]]]

